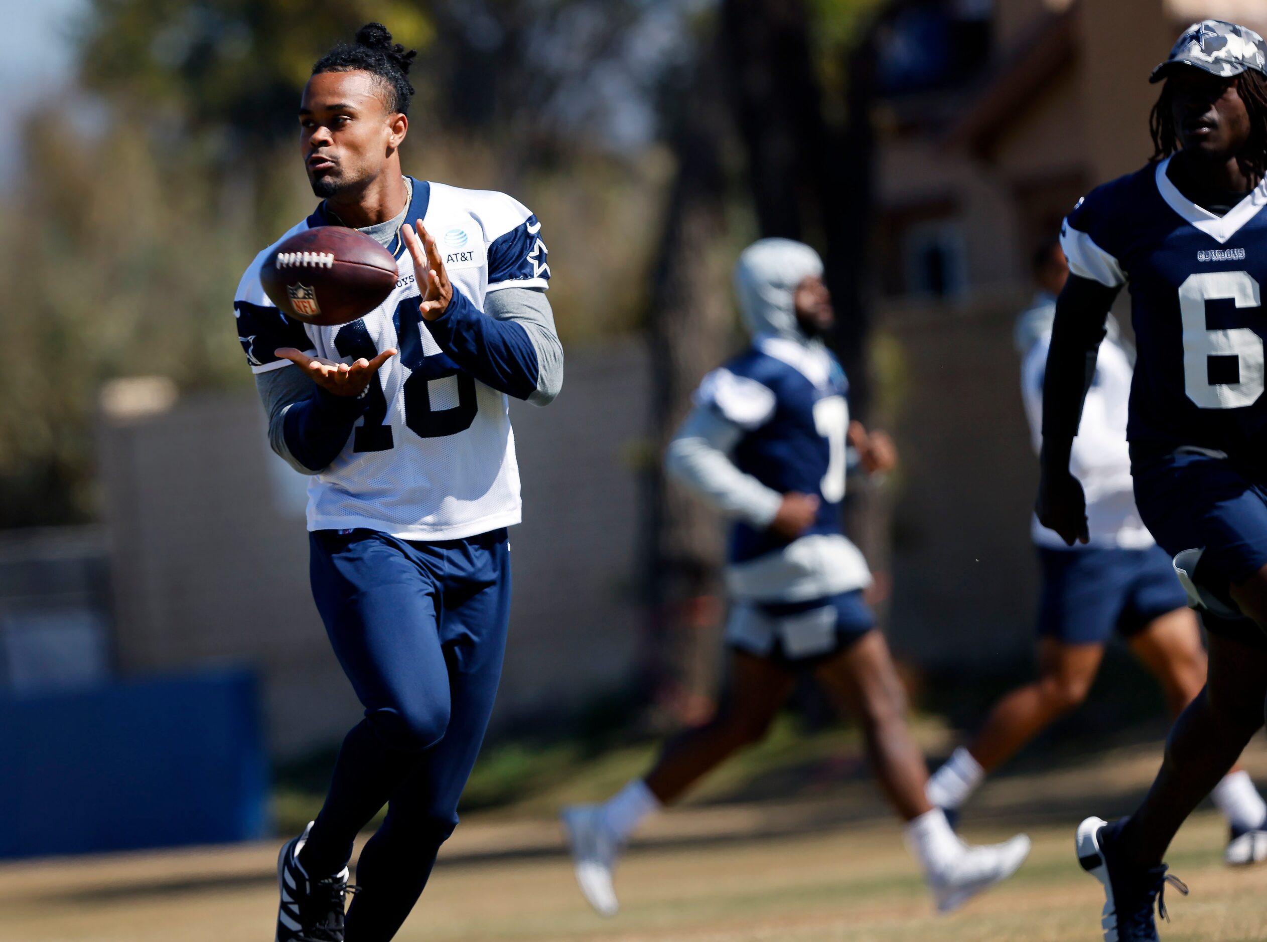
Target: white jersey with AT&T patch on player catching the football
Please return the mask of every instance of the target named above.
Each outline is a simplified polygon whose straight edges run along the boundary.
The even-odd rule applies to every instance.
[[[407,220],[423,220],[445,253],[455,289],[476,308],[483,310],[489,291],[547,287],[541,224],[526,206],[490,190],[412,182]],[[283,239],[326,222],[318,209]],[[345,363],[388,347],[399,351],[379,370],[372,401],[343,451],[313,475],[308,529],[366,528],[437,541],[518,523],[508,396],[461,370],[432,338],[403,241],[397,237],[390,247],[400,272],[395,290],[362,319],[340,327],[299,324],[269,300],[260,268],[274,246],[256,256],[234,298],[239,341],[255,372],[296,368],[274,356],[277,347]]]

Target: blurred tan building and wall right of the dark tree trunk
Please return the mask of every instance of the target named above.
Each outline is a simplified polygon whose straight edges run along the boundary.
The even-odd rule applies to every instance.
[[[946,0],[895,3],[873,34],[873,287],[906,458],[892,631],[924,666],[1029,650],[1038,468],[1012,318],[1077,199],[1152,156],[1148,75],[1206,16],[1267,30],[1261,0]]]

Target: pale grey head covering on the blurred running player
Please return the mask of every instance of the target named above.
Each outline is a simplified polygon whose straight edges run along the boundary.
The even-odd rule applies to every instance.
[[[792,295],[811,275],[822,275],[822,260],[803,242],[759,239],[745,248],[735,263],[735,295],[748,329],[803,342]]]

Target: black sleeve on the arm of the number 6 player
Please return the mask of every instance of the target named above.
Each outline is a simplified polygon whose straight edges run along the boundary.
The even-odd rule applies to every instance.
[[[1096,358],[1117,287],[1071,275],[1055,301],[1052,346],[1043,376],[1043,441],[1068,444],[1078,434],[1082,403],[1096,377]]]

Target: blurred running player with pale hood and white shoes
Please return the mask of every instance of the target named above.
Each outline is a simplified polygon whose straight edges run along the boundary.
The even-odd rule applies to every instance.
[[[730,691],[711,722],[665,744],[646,777],[604,804],[564,809],[576,879],[599,913],[613,914],[612,869],[630,834],[759,742],[807,670],[860,722],[938,908],[952,910],[1011,875],[1029,838],[969,847],[925,796],[902,684],[862,599],[870,574],[840,529],[846,442],[868,471],[889,468],[895,453],[883,433],[849,422],[844,372],[818,339],[834,318],[822,262],[808,246],[763,239],[740,256],[735,284],[753,346],[704,377],[666,458],[670,474],[736,519],[726,574]]]

